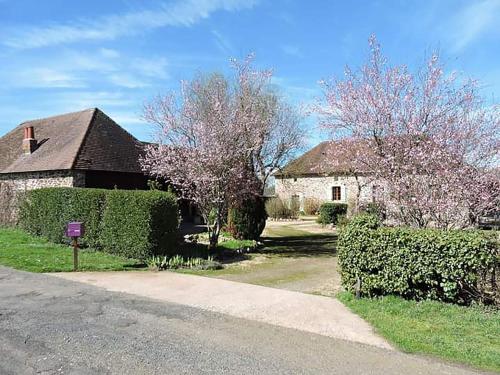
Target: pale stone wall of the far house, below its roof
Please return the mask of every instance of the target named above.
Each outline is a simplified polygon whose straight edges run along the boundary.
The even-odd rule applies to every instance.
[[[359,204],[374,200],[374,187],[365,177],[358,177],[361,188]],[[340,188],[340,199],[333,199],[334,187]],[[321,202],[347,203],[349,210],[356,206],[358,183],[354,176],[307,176],[295,178],[277,177],[275,180],[276,195],[282,199],[298,197],[301,209],[304,199],[315,198]]]

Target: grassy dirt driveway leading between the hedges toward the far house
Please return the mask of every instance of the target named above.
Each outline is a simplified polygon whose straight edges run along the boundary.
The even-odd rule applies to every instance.
[[[264,248],[251,259],[206,276],[333,296],[340,289],[336,235],[312,220],[269,221]]]

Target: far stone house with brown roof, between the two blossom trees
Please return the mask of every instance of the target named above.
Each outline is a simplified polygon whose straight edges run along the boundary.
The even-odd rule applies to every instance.
[[[375,201],[380,192],[366,176],[349,173],[347,161],[332,163],[332,158],[341,157],[335,146],[333,141],[322,142],[275,173],[276,195],[297,199],[301,210],[308,198],[347,203],[350,211],[356,205]]]

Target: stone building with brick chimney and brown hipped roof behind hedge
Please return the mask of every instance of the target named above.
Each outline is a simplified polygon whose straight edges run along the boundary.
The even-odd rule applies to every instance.
[[[0,138],[0,184],[145,189],[143,150],[97,108],[28,121]]]

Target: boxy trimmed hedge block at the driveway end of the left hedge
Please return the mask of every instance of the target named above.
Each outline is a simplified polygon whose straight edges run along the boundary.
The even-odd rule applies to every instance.
[[[102,219],[103,249],[137,259],[172,253],[179,226],[178,209],[171,193],[108,191]]]

